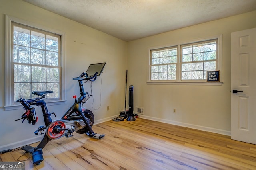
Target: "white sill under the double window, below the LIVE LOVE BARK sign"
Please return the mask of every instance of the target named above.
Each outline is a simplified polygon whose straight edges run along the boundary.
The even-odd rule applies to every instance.
[[[147,82],[149,85],[200,85],[200,86],[222,86],[223,82]]]

